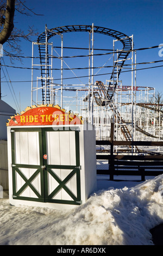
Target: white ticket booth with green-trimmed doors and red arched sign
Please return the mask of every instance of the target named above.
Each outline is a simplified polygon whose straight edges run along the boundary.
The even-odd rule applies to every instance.
[[[78,115],[32,106],[7,130],[10,204],[70,209],[96,190],[95,129]]]

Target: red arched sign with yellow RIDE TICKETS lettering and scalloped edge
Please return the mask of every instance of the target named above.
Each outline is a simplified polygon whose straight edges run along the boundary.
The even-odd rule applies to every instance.
[[[66,113],[58,105],[37,105],[27,107],[21,114],[8,119],[7,126],[32,125],[79,125],[83,124],[82,117],[73,112]]]

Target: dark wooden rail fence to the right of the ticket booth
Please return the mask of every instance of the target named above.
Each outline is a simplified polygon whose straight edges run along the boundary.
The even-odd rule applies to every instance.
[[[96,145],[110,145],[108,153],[102,150],[97,152],[97,161],[107,161],[108,169],[97,169],[97,174],[110,175],[110,180],[114,180],[114,175],[138,175],[141,180],[145,180],[145,176],[157,176],[163,173],[163,154],[156,154],[151,151],[145,154],[132,153],[134,146],[145,147],[163,147],[163,142],[155,141],[114,141],[113,129],[111,124],[111,139],[109,141],[96,141]],[[130,153],[115,152],[115,146],[130,147]],[[107,151],[107,150],[105,150]]]

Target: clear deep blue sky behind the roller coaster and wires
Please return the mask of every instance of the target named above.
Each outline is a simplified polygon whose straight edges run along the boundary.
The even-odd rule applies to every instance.
[[[35,11],[37,14],[43,14],[43,16],[22,16],[15,12],[15,26],[27,31],[28,25],[34,26],[41,34],[45,31],[45,25],[47,27],[55,28],[68,25],[92,25],[115,29],[128,36],[134,35],[134,48],[152,47],[163,44],[162,36],[162,17],[163,17],[163,2],[162,0],[28,0],[27,6]],[[96,48],[112,48],[112,38],[110,36],[95,34],[94,47]],[[33,38],[36,41],[37,38]],[[60,46],[60,39],[53,38],[53,44]],[[22,55],[24,57],[32,56],[32,43],[27,41],[21,41]],[[89,37],[85,33],[67,33],[64,35],[64,46],[68,47],[89,47]],[[116,46],[115,46],[116,47]],[[120,45],[117,45],[120,47]],[[5,48],[5,45],[4,45]],[[60,54],[60,50],[56,49]],[[159,56],[159,48],[151,50],[137,51],[136,62],[152,62],[155,60],[163,60],[163,57]],[[97,52],[101,53],[101,52]],[[162,51],[163,53],[163,51]],[[88,54],[87,51],[77,50],[64,50],[64,56]],[[56,55],[56,53],[55,53]],[[111,56],[105,56],[102,58],[95,58],[94,66],[101,66],[105,62],[107,65],[112,65],[112,60],[109,60]],[[87,66],[88,60],[85,58],[78,59],[66,59],[67,65],[73,67]],[[10,63],[9,57],[4,57],[6,65],[22,66],[23,68],[31,68],[31,59],[24,58],[23,63],[14,61]],[[3,64],[3,63],[2,63]],[[126,63],[127,64],[127,63]],[[57,62],[56,62],[57,65]],[[58,63],[58,65],[60,65]],[[151,66],[163,65],[162,62],[156,64],[139,65],[137,68],[147,68]],[[64,66],[67,68],[67,66]],[[30,106],[30,90],[31,90],[31,70],[29,69],[15,69],[4,67],[3,71],[7,77],[7,81],[11,81],[11,84],[6,83],[3,71],[2,76],[2,100],[9,103],[12,107],[18,107],[21,111],[27,106]],[[87,75],[88,71],[75,71],[77,75]],[[111,72],[111,69],[103,69],[102,72]],[[102,74],[101,72],[101,74]],[[9,77],[8,77],[9,75]],[[64,76],[72,77],[71,71],[64,72]],[[54,72],[54,78],[59,78],[59,74]],[[106,79],[110,79],[107,76],[99,76],[97,80],[105,82]],[[129,86],[131,83],[131,75],[121,74],[120,80],[123,85]],[[15,82],[18,81],[18,82]],[[29,81],[29,82],[21,82]],[[66,83],[79,83],[79,80],[66,81]],[[87,83],[87,78],[82,80],[83,83]],[[137,86],[149,86],[155,87],[156,91],[162,91],[162,67],[140,70],[136,72],[136,84]],[[12,85],[12,87],[11,87]],[[10,88],[9,88],[10,87]],[[18,107],[15,106],[15,100],[13,99],[13,91],[16,95]],[[10,91],[11,90],[11,91]],[[12,94],[11,94],[12,92]]]

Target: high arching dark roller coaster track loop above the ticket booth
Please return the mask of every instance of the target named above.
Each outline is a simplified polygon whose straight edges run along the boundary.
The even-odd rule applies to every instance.
[[[56,28],[52,28],[52,29],[47,29],[47,32],[43,32],[37,39],[37,42],[42,43],[39,44],[39,53],[40,53],[40,64],[41,64],[41,76],[43,77],[43,74],[45,74],[45,71],[47,71],[47,77],[49,75],[49,66],[47,63],[47,70],[45,70],[45,54],[46,51],[48,49],[46,49],[46,40],[48,42],[49,39],[52,38],[52,36],[55,35],[61,35],[63,33],[69,33],[69,32],[92,32],[92,26],[89,25],[71,25],[71,26],[63,26],[63,27],[56,27]],[[104,34],[104,35],[109,35],[112,36],[113,38],[119,40],[122,42],[123,48],[122,51],[118,54],[118,62],[115,62],[115,66],[118,64],[118,66],[120,67],[118,69],[118,77],[120,76],[120,72],[121,72],[121,68],[126,60],[126,58],[128,57],[128,54],[130,53],[130,50],[132,49],[132,40],[129,38],[129,36],[127,36],[124,33],[115,31],[114,29],[110,29],[110,28],[104,28],[104,27],[99,27],[99,26],[93,26],[93,33],[99,33],[99,34]],[[114,71],[112,71],[110,80],[112,80]],[[45,80],[41,80],[42,82],[42,101],[45,101]],[[48,84],[48,80],[47,80],[47,84]],[[109,86],[111,86],[111,82],[109,84]],[[109,87],[108,86],[108,87]],[[113,85],[112,85],[113,86]],[[115,82],[114,87],[116,87],[117,84]],[[95,93],[94,95],[96,103],[98,105],[105,105],[105,103],[101,100],[101,97],[98,93]],[[110,90],[108,88],[106,96],[107,101],[110,102],[112,99],[112,93],[110,93]],[[46,92],[46,102],[49,102],[49,92]]]

